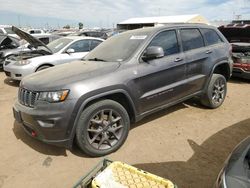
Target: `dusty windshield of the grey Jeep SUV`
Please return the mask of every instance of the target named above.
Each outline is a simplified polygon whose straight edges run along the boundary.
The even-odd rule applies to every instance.
[[[144,43],[149,34],[148,30],[137,30],[111,37],[91,51],[84,59],[112,62],[126,61]]]

